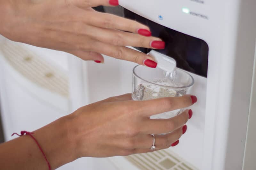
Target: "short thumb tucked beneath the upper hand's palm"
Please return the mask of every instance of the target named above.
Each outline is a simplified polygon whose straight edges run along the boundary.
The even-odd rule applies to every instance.
[[[76,55],[82,60],[93,60],[93,61],[99,61],[100,63],[104,63],[103,56],[100,53],[97,53],[94,51],[73,50],[73,51],[68,51],[68,53]]]

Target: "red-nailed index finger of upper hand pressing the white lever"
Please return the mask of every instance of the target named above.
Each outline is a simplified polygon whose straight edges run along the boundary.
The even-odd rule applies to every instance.
[[[111,44],[97,41],[94,43],[94,46],[91,48],[92,48],[91,49],[92,51],[95,51],[104,55],[108,55],[116,59],[131,61],[134,63],[138,63],[140,65],[145,65],[152,68],[156,68],[156,65],[157,65],[157,63],[154,62],[154,58],[128,47],[119,47],[119,46],[114,46]]]

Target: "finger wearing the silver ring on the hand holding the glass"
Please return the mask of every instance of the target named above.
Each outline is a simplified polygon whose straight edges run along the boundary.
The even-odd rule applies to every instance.
[[[165,149],[169,148],[175,141],[180,139],[182,136],[183,127],[176,129],[172,133],[168,133],[165,135],[155,135],[155,146],[157,149]],[[134,143],[135,148],[140,149],[149,149],[153,145],[153,136],[152,135],[138,135],[134,139],[132,139],[132,143]],[[132,149],[132,148],[131,148]]]

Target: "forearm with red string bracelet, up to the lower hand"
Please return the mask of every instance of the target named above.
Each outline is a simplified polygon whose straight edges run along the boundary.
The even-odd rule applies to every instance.
[[[62,117],[55,122],[34,131],[33,136],[42,147],[51,168],[56,169],[76,159],[76,143],[72,133],[70,117]],[[0,145],[1,169],[48,169],[43,154],[36,142],[28,135],[18,137]]]

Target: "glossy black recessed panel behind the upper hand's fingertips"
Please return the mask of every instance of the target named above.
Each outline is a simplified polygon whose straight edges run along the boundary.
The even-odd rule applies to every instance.
[[[95,10],[112,13],[147,25],[152,32],[152,36],[159,37],[166,43],[165,49],[156,51],[174,58],[177,62],[177,67],[207,77],[209,47],[204,40],[159,25],[121,6],[100,6]],[[148,53],[151,50],[149,48],[137,49],[144,53]]]

